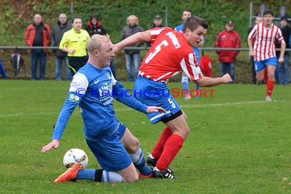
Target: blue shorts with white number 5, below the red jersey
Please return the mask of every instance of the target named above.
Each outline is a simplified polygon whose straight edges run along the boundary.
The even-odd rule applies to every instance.
[[[134,97],[147,106],[159,106],[165,109],[166,113],[147,114],[153,124],[181,110],[169,92],[167,85],[162,82],[155,82],[138,76],[134,83]]]

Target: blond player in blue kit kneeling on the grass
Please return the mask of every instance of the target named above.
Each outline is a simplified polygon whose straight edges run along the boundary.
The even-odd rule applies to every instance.
[[[161,107],[146,106],[131,95],[122,93],[126,88],[114,79],[109,68],[110,60],[115,54],[108,36],[93,35],[87,42],[87,50],[88,62],[70,83],[52,142],[44,146],[41,152],[59,147],[68,119],[79,105],[86,142],[103,169],[84,169],[81,163],[77,163],[55,182],[72,180],[135,182],[138,177],[152,177],[153,170],[145,163],[138,139],[115,118],[113,97],[143,113],[165,110]]]

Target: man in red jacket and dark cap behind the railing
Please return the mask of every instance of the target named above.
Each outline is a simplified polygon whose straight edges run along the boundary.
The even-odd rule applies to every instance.
[[[225,30],[220,32],[215,41],[215,47],[219,48],[240,48],[241,39],[239,34],[233,30],[233,21],[228,21],[225,26]],[[219,61],[221,65],[221,75],[229,74],[232,83],[235,78],[235,58],[239,51],[216,51],[219,55]]]

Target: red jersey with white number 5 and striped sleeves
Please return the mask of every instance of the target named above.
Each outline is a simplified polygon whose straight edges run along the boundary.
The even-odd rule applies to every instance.
[[[196,55],[183,33],[173,31],[171,28],[158,28],[150,31],[151,38],[154,40],[152,47],[155,50],[150,50],[152,52],[149,51],[144,57],[145,60],[139,70],[141,77],[167,83],[169,78],[181,70],[191,80],[203,77],[196,61]],[[167,57],[165,58],[165,56]]]

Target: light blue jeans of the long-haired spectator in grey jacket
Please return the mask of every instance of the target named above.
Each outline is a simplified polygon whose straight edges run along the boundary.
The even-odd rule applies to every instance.
[[[125,54],[125,60],[126,60],[126,69],[128,72],[128,80],[130,82],[133,82],[138,74],[139,70],[139,61],[140,61],[140,53],[135,53],[135,54]],[[134,66],[134,75],[132,72],[132,67]]]

